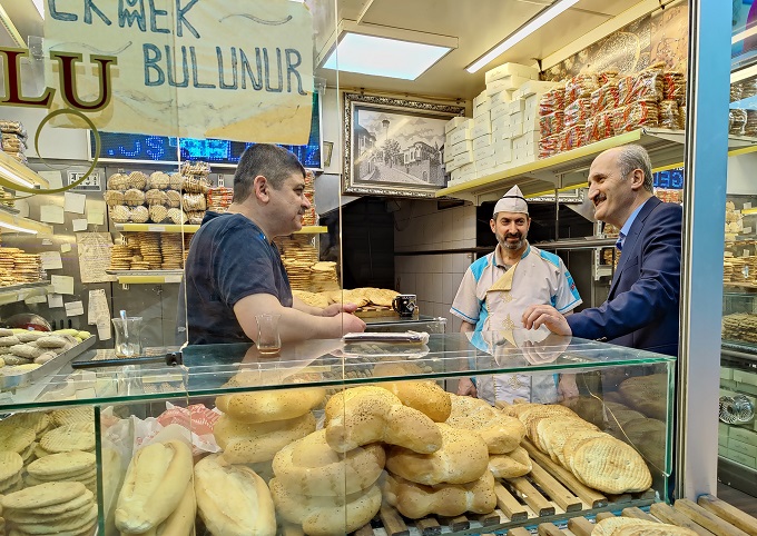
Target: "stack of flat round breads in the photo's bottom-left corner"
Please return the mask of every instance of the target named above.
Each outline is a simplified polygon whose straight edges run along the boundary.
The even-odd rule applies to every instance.
[[[0,504],[8,534],[90,536],[97,530],[95,495],[78,482],[27,487]]]

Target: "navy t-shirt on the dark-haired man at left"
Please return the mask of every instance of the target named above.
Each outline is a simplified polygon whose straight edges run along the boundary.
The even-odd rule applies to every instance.
[[[278,249],[239,214],[206,212],[184,271],[190,345],[249,343],[234,314],[234,305],[246,296],[269,294],[292,307],[292,287]],[[179,297],[179,324],[183,320]]]

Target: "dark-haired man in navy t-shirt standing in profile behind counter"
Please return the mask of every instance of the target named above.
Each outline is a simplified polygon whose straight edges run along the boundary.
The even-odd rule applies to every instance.
[[[273,239],[302,229],[311,208],[304,190],[305,169],[286,149],[258,143],[242,155],[228,211],[208,211],[189,247],[184,287],[190,345],[249,343],[259,314],[281,316],[282,343],[365,330],[352,304],[321,309],[292,296]],[[179,321],[184,315],[179,310]]]

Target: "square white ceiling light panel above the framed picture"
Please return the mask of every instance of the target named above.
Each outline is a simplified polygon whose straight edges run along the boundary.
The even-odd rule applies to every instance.
[[[456,38],[343,20],[323,67],[415,80],[456,47]]]

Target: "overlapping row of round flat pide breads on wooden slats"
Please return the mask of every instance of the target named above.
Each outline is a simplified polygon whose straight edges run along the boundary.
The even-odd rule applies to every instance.
[[[632,447],[559,405],[515,404],[508,410],[529,439],[587,486],[608,494],[641,492],[652,477]]]

